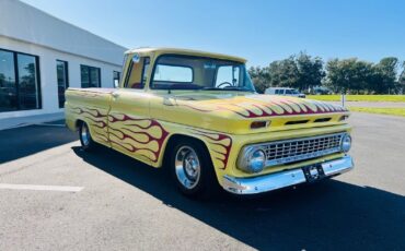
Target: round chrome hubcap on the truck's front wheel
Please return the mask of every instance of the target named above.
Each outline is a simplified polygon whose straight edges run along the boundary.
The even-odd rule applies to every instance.
[[[195,188],[200,176],[200,165],[196,152],[189,146],[180,147],[174,165],[178,181],[186,189]]]

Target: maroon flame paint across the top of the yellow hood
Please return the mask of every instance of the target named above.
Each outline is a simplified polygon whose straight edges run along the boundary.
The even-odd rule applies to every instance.
[[[184,106],[200,112],[212,111],[231,111],[243,118],[261,118],[268,116],[294,116],[294,115],[317,115],[347,111],[340,106],[334,106],[316,100],[311,101],[296,101],[292,99],[271,98],[261,101],[241,101],[227,103],[212,106],[204,105],[197,107],[192,101],[178,101],[178,106]]]

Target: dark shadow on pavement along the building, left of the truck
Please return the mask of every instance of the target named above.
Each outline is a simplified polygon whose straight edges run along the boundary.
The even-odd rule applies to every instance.
[[[51,124],[60,124],[54,127]],[[0,131],[0,164],[22,158],[78,140],[63,121]]]

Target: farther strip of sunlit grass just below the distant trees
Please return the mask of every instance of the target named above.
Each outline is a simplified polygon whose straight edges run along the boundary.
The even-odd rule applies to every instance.
[[[339,101],[340,95],[308,95],[306,98]],[[347,101],[405,101],[405,95],[346,95]]]

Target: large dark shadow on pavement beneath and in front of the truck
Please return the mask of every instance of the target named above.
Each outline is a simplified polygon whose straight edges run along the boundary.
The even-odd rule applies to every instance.
[[[112,150],[78,156],[187,215],[259,250],[405,250],[405,198],[326,180],[259,198],[181,195],[167,175]]]

